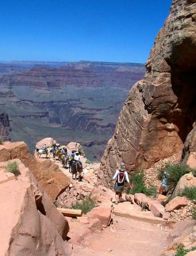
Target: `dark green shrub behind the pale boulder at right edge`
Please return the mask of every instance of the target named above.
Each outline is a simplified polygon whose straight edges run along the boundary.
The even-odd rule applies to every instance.
[[[166,166],[166,183],[169,189],[174,189],[180,178],[189,172],[195,172],[195,170],[190,168],[187,164],[168,164]]]

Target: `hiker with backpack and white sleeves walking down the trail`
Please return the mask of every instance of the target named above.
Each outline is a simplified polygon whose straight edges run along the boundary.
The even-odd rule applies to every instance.
[[[116,173],[115,173],[114,177],[112,177],[112,180],[115,180],[115,179],[116,179],[116,182],[115,182],[115,185],[114,185],[114,190],[116,192],[115,204],[118,204],[122,200],[122,193],[123,193],[123,189],[124,189],[124,183],[127,182],[128,185],[131,188],[130,180],[128,179],[127,171],[125,170],[125,163],[122,162],[120,164],[120,170],[116,170]]]

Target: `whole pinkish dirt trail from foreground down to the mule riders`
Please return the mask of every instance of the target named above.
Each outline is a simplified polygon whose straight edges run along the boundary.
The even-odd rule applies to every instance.
[[[59,160],[55,160],[55,163],[65,175],[72,179],[68,168],[62,168]],[[73,186],[79,190],[87,186],[92,190],[97,182],[98,167],[99,164],[87,164],[84,168],[84,179],[80,182],[74,180]],[[114,200],[115,194],[111,193]],[[102,205],[106,203],[101,202],[99,206]],[[164,220],[156,218],[152,212],[141,210],[138,205],[127,201],[118,205],[110,201],[110,205],[112,206],[111,222],[105,228],[98,229],[97,223],[92,223],[92,220],[85,215],[77,218],[66,217],[70,227],[68,237],[69,243],[73,245],[73,256],[140,256],[144,254],[157,256],[166,249],[166,238],[170,228],[164,226]]]

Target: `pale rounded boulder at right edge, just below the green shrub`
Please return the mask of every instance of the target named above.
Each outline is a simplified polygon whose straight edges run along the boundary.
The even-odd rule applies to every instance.
[[[179,195],[185,189],[185,187],[195,187],[195,186],[196,186],[196,177],[194,177],[191,172],[190,174],[185,174],[178,181],[178,184],[174,189],[172,198]]]

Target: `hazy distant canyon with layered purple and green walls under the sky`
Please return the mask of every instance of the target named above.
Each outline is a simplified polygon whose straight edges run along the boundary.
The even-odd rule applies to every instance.
[[[0,62],[0,106],[9,114],[11,141],[25,141],[31,151],[43,137],[78,141],[87,158],[99,160],[144,73],[136,63]]]

